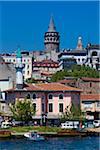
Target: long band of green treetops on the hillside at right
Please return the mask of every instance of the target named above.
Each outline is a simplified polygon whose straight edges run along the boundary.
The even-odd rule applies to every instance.
[[[81,78],[81,77],[91,77],[91,78],[99,78],[99,71],[86,67],[86,66],[80,66],[80,65],[75,65],[71,68],[71,70],[63,70],[63,71],[58,71],[55,74],[53,74],[51,78],[51,82],[56,82],[59,80],[64,79],[64,77],[76,77],[76,78]]]

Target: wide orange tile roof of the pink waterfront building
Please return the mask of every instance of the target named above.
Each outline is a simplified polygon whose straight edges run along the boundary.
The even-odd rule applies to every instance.
[[[81,92],[81,89],[65,86],[60,83],[41,83],[41,84],[27,84],[23,89],[9,89],[6,92],[13,91],[78,91]]]

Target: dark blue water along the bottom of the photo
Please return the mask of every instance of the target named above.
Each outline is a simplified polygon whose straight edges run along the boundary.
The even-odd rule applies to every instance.
[[[99,150],[99,137],[49,138],[41,142],[27,139],[1,140],[0,150]]]

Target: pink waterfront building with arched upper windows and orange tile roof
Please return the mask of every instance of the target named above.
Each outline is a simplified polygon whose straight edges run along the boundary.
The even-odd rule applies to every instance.
[[[80,107],[80,92],[78,88],[62,85],[60,83],[44,83],[24,85],[23,89],[11,89],[5,91],[6,103],[14,103],[25,98],[32,102],[36,109],[33,120],[41,123],[43,115],[47,120],[59,119],[65,109],[70,109],[74,103]]]

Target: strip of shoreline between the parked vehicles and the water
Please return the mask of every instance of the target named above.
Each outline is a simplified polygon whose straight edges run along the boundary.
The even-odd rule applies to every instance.
[[[30,130],[28,132],[32,132],[35,130]],[[38,132],[38,131],[37,131]],[[21,139],[25,138],[24,134],[26,132],[15,132],[15,131],[9,131],[9,130],[0,130],[0,140],[3,139]],[[38,132],[40,135],[46,137],[46,138],[53,138],[53,137],[88,137],[88,136],[100,136],[100,128],[99,129],[87,129],[84,131],[78,131],[78,130],[62,130],[59,132]]]

